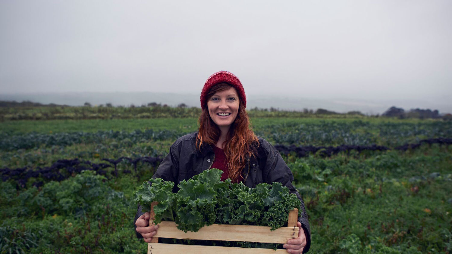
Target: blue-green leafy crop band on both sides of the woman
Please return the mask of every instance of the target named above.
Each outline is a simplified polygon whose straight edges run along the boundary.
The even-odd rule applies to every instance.
[[[361,131],[358,131],[361,130]],[[377,133],[375,133],[377,132]],[[15,151],[50,146],[70,146],[78,143],[112,143],[113,147],[130,147],[136,143],[155,140],[175,140],[187,134],[183,130],[137,129],[127,131],[68,132],[55,134],[28,133],[11,135],[0,133],[0,150]],[[287,123],[257,128],[256,134],[271,143],[296,145],[366,145],[400,146],[419,142],[420,139],[452,137],[452,124],[384,123],[371,125],[368,122],[299,124]]]

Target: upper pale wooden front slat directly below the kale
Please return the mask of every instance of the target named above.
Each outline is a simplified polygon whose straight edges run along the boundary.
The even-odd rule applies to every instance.
[[[198,232],[184,233],[177,229],[175,222],[160,222],[158,237],[196,240],[245,241],[285,244],[292,239],[298,227],[280,227],[270,231],[269,226],[212,224],[203,226]],[[297,236],[295,236],[297,237]]]

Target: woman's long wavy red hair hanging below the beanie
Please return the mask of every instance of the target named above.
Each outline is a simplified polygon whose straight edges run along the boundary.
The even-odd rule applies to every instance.
[[[207,98],[212,97],[216,92],[221,92],[231,87],[227,83],[217,84],[207,93]],[[240,172],[246,166],[246,158],[255,157],[257,153],[256,148],[259,146],[259,140],[251,129],[250,118],[242,106],[243,101],[240,96],[239,100],[239,112],[226,134],[226,141],[224,143],[229,178],[231,178],[232,182],[240,178]],[[202,145],[206,143],[209,145],[217,144],[221,131],[218,125],[210,118],[207,107],[199,115],[198,126],[199,132],[196,139],[198,149],[201,149]]]

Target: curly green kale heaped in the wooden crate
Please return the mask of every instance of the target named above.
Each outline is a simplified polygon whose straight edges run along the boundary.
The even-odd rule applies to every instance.
[[[196,232],[213,223],[271,226],[275,230],[287,223],[289,211],[301,206],[297,196],[281,183],[262,183],[251,189],[243,183],[231,184],[231,179],[221,181],[222,173],[211,169],[183,180],[176,194],[173,182],[150,179],[135,192],[134,202],[143,206],[143,212],[150,210],[152,202],[159,202],[154,206],[155,223],[175,221],[184,232]]]

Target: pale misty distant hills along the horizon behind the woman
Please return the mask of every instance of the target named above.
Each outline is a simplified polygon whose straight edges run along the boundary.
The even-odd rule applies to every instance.
[[[55,103],[69,106],[82,106],[85,102],[91,105],[113,106],[141,106],[149,102],[162,105],[177,106],[185,103],[187,106],[199,106],[198,94],[163,93],[163,92],[73,92],[73,93],[29,93],[29,94],[0,94],[1,101],[32,101],[43,104]],[[318,99],[295,96],[272,96],[247,94],[247,109],[277,108],[280,110],[302,111],[304,108],[316,110],[323,108],[338,113],[348,111],[361,111],[364,114],[376,115],[385,112],[389,107],[397,106],[410,110],[413,108],[437,109],[440,114],[451,113],[452,104],[445,102],[432,102],[429,100],[414,99],[375,99],[364,100],[360,98],[330,98]]]

